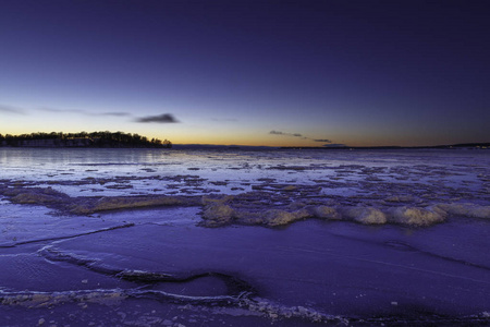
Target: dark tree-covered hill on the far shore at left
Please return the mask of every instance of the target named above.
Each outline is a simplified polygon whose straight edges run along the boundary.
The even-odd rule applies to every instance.
[[[0,134],[4,147],[121,147],[121,148],[171,148],[170,141],[148,140],[146,136],[123,132],[81,133],[30,133],[21,135]]]

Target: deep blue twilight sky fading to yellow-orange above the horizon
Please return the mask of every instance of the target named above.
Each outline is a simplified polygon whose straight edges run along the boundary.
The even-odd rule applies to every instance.
[[[488,1],[2,0],[0,134],[490,142]]]

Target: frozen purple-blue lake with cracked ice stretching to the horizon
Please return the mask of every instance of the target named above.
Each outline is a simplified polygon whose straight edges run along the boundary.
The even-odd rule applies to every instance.
[[[490,324],[490,152],[0,148],[0,325]]]

